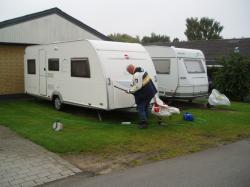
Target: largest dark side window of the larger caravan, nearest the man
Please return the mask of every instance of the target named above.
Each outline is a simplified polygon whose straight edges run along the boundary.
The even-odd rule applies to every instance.
[[[71,77],[90,78],[90,68],[88,58],[71,59]]]

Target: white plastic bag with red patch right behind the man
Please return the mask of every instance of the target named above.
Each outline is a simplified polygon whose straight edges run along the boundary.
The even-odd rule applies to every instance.
[[[171,116],[172,114],[180,114],[180,110],[178,108],[166,105],[158,97],[154,97],[154,104],[151,112],[157,116]]]

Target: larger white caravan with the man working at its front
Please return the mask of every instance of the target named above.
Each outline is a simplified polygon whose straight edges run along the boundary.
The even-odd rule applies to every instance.
[[[140,44],[78,40],[29,46],[24,57],[25,92],[61,104],[112,110],[135,106],[128,64],[144,68],[153,82],[153,62]]]

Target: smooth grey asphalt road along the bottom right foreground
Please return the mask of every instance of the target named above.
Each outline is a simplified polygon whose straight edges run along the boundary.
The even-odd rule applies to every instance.
[[[250,140],[108,175],[76,175],[45,186],[249,187]]]

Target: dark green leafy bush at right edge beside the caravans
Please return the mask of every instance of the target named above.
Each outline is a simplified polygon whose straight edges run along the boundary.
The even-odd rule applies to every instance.
[[[243,101],[250,94],[250,59],[233,53],[219,63],[223,67],[215,72],[215,88],[231,99]]]

